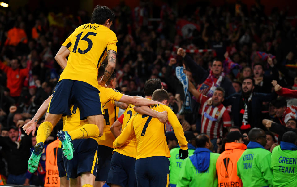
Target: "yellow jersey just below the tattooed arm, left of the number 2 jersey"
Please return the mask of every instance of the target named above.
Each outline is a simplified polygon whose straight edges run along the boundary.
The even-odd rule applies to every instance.
[[[123,94],[112,88],[105,88],[99,85],[100,100],[104,112],[103,135],[97,139],[99,145],[113,147],[115,140],[110,131],[111,125],[118,119],[118,107],[114,106],[114,101],[119,101]]]

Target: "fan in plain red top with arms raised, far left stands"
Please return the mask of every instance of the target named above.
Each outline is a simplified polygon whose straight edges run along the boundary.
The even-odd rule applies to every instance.
[[[15,99],[21,95],[24,79],[28,76],[28,69],[20,69],[19,61],[13,59],[10,62],[11,67],[0,62],[0,69],[6,73],[7,76],[7,87],[10,90],[10,96]]]

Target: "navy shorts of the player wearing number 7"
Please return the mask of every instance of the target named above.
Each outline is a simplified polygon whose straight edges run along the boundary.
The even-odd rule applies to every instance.
[[[170,184],[169,159],[164,156],[137,159],[135,176],[138,187],[168,187]]]

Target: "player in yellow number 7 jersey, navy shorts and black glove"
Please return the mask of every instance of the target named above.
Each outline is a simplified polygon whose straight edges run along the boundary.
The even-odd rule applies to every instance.
[[[167,104],[169,96],[165,90],[158,89],[154,91],[152,100]],[[176,115],[166,105],[151,105],[150,108],[159,112],[165,110],[168,112],[168,120],[174,129],[175,136],[179,140],[179,157],[181,159],[187,158],[187,141]],[[139,109],[135,108],[135,110],[137,112]],[[114,148],[124,145],[133,132],[137,140],[135,162],[137,186],[167,187],[169,185],[168,158],[170,157],[170,152],[166,143],[165,124],[151,116],[136,113],[129,120],[121,135],[114,141]]]

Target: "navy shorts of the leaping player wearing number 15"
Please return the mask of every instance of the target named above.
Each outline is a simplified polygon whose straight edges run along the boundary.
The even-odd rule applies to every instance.
[[[47,110],[50,114],[71,115],[70,105],[80,109],[80,119],[103,114],[98,88],[83,82],[63,79],[54,89]]]

